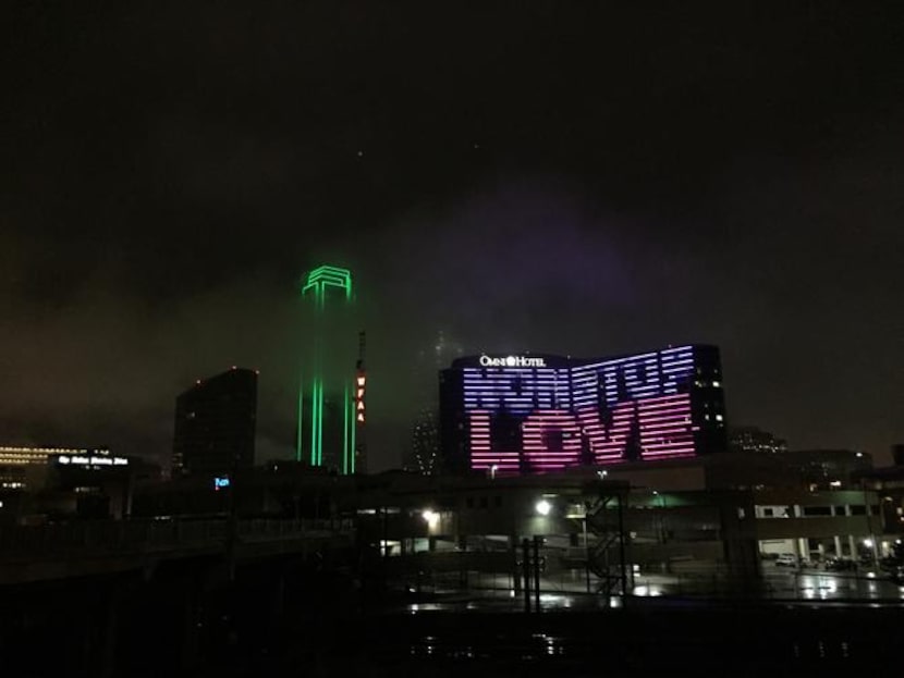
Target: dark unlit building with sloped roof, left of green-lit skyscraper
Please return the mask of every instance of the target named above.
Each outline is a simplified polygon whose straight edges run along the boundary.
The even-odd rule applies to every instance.
[[[175,399],[173,476],[254,466],[256,420],[257,372],[233,368],[199,380]]]

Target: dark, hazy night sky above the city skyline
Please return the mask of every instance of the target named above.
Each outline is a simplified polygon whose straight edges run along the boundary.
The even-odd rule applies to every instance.
[[[439,331],[712,343],[730,423],[904,442],[895,3],[201,4],[0,10],[0,443],[166,459],[175,395],[241,365],[288,456],[321,262],[377,469]]]

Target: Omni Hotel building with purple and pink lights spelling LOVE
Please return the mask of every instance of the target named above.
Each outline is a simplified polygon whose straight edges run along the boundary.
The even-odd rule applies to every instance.
[[[542,473],[726,449],[719,349],[459,358],[440,373],[447,470]]]

